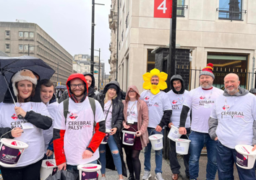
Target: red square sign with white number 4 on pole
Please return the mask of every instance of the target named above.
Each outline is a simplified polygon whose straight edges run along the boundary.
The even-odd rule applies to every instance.
[[[154,17],[171,18],[172,0],[155,0]]]

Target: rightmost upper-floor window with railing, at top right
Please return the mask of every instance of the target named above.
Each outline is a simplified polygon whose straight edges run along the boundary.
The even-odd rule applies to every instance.
[[[242,20],[242,0],[219,0],[218,19]]]

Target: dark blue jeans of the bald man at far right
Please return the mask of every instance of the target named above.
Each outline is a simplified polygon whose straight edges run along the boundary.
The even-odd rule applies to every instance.
[[[236,150],[227,148],[216,140],[218,179],[234,179],[234,163],[236,163]],[[245,169],[236,165],[240,180],[255,180],[255,168]]]

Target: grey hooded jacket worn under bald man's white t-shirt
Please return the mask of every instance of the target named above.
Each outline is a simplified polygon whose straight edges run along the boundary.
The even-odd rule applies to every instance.
[[[224,93],[223,93],[223,96],[244,96],[248,93],[249,93],[249,91],[239,87],[239,91],[234,95],[228,94],[228,92],[225,89]],[[208,132],[209,132],[210,138],[212,140],[215,140],[215,138],[217,137],[216,129],[217,129],[217,126],[218,126],[218,119],[214,119],[214,118],[210,117],[209,121],[208,121],[208,124],[209,124]],[[254,135],[253,138],[252,138],[252,145],[256,145],[256,120],[253,122],[253,127],[252,128],[253,128],[253,135]]]

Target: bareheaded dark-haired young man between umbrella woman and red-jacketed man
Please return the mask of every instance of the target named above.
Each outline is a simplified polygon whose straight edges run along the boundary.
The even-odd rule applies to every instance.
[[[51,80],[43,79],[40,81],[40,98],[43,104],[46,104],[51,119],[54,121],[54,116],[59,105],[56,102],[56,96],[54,94],[54,83]],[[54,154],[54,123],[48,130],[43,130],[43,138],[45,144],[46,155],[43,159],[47,157],[52,159]]]

